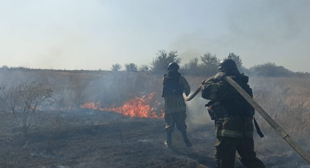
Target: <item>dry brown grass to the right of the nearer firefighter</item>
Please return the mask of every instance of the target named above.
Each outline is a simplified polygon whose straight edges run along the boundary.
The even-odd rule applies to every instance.
[[[254,99],[293,139],[310,149],[310,80],[256,78],[251,83]],[[262,117],[256,116],[265,135],[279,138]]]

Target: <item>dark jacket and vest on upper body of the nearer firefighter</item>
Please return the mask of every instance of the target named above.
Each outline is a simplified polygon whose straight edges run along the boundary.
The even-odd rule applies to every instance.
[[[253,97],[252,89],[247,84],[249,81],[249,77],[240,73],[236,74],[236,76],[229,77],[231,77],[251,97]],[[211,119],[215,120],[216,136],[232,138],[253,138],[254,127],[252,120],[254,118],[253,115],[255,109],[231,85],[225,82],[219,83],[219,85],[222,84],[224,84],[222,89],[224,89],[224,91],[228,93],[227,96],[229,97],[224,97],[222,99],[219,99],[219,101],[212,100],[208,104],[206,104]],[[216,85],[211,84],[211,88],[213,86]],[[210,95],[204,96],[210,97]],[[259,136],[263,137],[263,134],[260,131],[257,122],[255,121],[255,118],[254,124]]]

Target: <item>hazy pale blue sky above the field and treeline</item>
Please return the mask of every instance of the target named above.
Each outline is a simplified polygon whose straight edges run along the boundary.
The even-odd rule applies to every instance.
[[[307,0],[0,0],[0,66],[103,69],[149,64],[160,49],[183,58],[240,55],[310,72]]]

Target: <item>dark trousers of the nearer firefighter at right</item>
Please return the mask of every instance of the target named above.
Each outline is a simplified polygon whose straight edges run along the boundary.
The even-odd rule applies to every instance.
[[[263,162],[256,157],[253,138],[217,137],[215,147],[217,168],[234,168],[236,151],[246,168],[265,168]]]

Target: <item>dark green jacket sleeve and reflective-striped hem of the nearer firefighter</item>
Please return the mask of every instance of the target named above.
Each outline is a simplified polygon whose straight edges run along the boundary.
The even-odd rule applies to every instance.
[[[234,79],[232,77],[232,79]],[[211,77],[201,86],[201,96],[204,99],[218,102],[230,101],[239,94],[228,82],[219,81]],[[217,137],[253,138],[253,116],[228,116],[219,118],[215,122]]]

